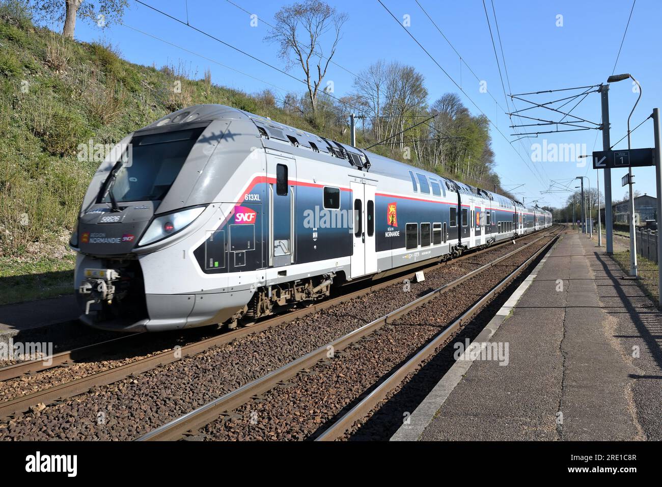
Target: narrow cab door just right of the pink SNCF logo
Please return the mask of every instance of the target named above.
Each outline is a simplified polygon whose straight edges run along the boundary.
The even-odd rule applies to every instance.
[[[269,180],[269,265],[295,261],[295,204],[297,165],[294,158],[267,153]]]

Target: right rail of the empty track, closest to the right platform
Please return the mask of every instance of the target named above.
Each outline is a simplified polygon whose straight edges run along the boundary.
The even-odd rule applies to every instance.
[[[404,378],[408,376],[411,372],[414,372],[418,365],[422,363],[426,358],[432,356],[436,349],[440,347],[440,345],[443,345],[444,342],[446,342],[455,331],[461,328],[462,323],[466,323],[467,321],[470,321],[483,307],[489,299],[491,299],[495,294],[500,292],[500,290],[506,288],[510,284],[516,276],[526,266],[528,266],[533,260],[538,258],[542,252],[545,252],[546,250],[549,250],[551,245],[556,241],[556,239],[559,237],[560,232],[553,237],[549,241],[549,243],[545,244],[540,250],[538,250],[535,254],[530,256],[522,265],[518,266],[512,273],[510,273],[506,278],[504,278],[502,281],[499,282],[492,290],[487,292],[479,301],[477,301],[475,304],[473,304],[465,313],[463,313],[459,318],[457,318],[451,325],[444,329],[444,331],[440,332],[432,341],[430,341],[423,349],[418,351],[412,358],[407,360],[401,367],[399,367],[395,372],[393,372],[388,378],[383,380],[379,385],[374,388],[367,396],[365,396],[360,402],[358,402],[350,411],[342,415],[335,423],[333,423],[328,429],[324,431],[321,435],[316,437],[315,441],[334,441],[348,431],[354,425],[356,421],[359,421],[363,417],[365,417],[370,411],[372,411],[375,406],[379,404],[383,399],[386,398],[387,394],[391,392],[393,389],[395,389],[397,386],[399,386]]]

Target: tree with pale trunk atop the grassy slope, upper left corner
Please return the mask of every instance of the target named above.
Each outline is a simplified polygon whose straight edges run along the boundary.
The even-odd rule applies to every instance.
[[[30,6],[42,20],[49,22],[64,21],[62,35],[73,39],[76,18],[83,17],[93,21],[99,27],[122,20],[128,0],[30,0]]]

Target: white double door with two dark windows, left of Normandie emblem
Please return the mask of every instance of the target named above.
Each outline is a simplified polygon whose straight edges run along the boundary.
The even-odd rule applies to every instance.
[[[352,234],[352,279],[377,272],[377,248],[375,245],[375,186],[350,183],[352,189],[354,227]]]

